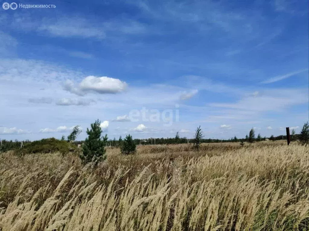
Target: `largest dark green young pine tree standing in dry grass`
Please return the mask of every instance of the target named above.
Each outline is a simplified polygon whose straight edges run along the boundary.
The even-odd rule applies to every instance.
[[[102,128],[100,127],[101,121],[96,120],[91,124],[91,129],[87,128],[88,137],[85,139],[83,144],[83,153],[80,158],[85,162],[92,162],[98,164],[99,161],[106,159],[105,145],[108,140],[107,134],[101,138]]]

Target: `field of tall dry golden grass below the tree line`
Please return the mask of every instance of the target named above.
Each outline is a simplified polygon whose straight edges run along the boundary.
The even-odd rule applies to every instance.
[[[308,146],[261,141],[0,154],[0,230],[309,230]]]

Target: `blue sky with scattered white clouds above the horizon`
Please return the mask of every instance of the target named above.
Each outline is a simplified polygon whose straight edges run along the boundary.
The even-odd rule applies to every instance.
[[[0,139],[80,125],[83,140],[97,119],[110,139],[269,137],[308,120],[308,1],[44,4],[0,5]]]

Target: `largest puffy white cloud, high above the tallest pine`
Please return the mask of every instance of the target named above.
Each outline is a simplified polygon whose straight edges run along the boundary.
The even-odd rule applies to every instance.
[[[120,79],[114,79],[107,76],[95,77],[87,76],[76,86],[72,80],[67,80],[64,89],[76,95],[85,95],[89,91],[95,91],[99,94],[119,93],[126,89],[127,84]]]

